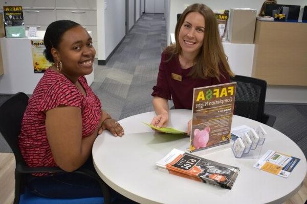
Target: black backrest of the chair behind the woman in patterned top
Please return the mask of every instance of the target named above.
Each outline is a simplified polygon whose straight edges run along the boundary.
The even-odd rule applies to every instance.
[[[25,163],[18,147],[18,135],[28,100],[29,97],[20,92],[7,99],[0,106],[0,133],[11,147],[16,163]]]

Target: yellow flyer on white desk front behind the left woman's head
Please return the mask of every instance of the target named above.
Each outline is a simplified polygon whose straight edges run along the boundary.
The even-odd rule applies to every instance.
[[[43,73],[52,64],[43,55],[43,50],[46,49],[43,40],[31,40],[32,59],[34,73]]]

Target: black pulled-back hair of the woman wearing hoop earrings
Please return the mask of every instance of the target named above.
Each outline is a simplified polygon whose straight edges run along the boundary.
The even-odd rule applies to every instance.
[[[54,63],[51,48],[57,48],[63,34],[78,25],[80,24],[71,20],[57,20],[48,25],[45,36],[43,37],[43,42],[46,47],[43,53],[49,62]]]

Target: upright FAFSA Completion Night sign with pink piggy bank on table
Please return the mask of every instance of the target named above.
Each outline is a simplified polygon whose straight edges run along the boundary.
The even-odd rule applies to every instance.
[[[235,88],[235,82],[194,88],[191,152],[229,144]]]

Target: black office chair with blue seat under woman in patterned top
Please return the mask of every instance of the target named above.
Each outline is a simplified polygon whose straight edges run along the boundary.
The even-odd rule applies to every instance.
[[[58,167],[28,167],[24,158],[21,156],[18,147],[18,135],[21,129],[21,121],[23,119],[24,112],[28,105],[29,97],[25,93],[16,93],[9,99],[7,99],[0,106],[0,133],[3,135],[9,146],[11,147],[15,160],[15,198],[14,204],[21,201],[24,203],[111,203],[111,194],[108,186],[100,179],[100,177],[89,169],[77,169],[72,173],[80,173],[97,180],[101,186],[103,197],[94,198],[76,198],[76,199],[51,199],[43,198],[36,195],[26,193],[25,176],[30,173],[47,173],[47,172],[64,172]],[[25,201],[24,197],[30,199]],[[39,198],[37,198],[39,197]],[[32,199],[32,201],[31,201]],[[35,202],[33,201],[35,200]]]

